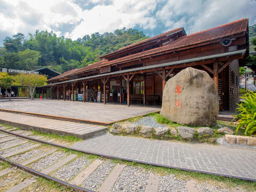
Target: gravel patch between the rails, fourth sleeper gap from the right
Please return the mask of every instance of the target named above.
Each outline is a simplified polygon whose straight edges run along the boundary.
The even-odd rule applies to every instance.
[[[77,175],[80,171],[84,169],[84,167],[90,163],[90,160],[85,157],[76,158],[75,161],[61,167],[56,173],[55,177],[62,181],[69,181],[75,175]]]

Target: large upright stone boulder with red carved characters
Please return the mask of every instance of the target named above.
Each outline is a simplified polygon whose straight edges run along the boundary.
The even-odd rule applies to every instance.
[[[217,122],[218,113],[218,92],[205,71],[188,67],[167,81],[161,115],[170,121],[211,126]]]

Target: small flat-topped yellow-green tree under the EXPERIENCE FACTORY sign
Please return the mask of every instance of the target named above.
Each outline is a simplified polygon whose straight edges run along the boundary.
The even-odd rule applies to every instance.
[[[34,92],[37,86],[43,86],[46,84],[47,78],[44,75],[35,74],[19,74],[16,79],[23,86],[26,86],[26,90],[30,93],[31,100],[34,99]]]

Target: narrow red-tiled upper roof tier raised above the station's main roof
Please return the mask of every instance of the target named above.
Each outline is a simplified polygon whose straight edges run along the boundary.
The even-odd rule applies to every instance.
[[[113,54],[113,53],[116,53],[116,52],[119,52],[119,51],[128,49],[128,48],[133,47],[133,46],[140,45],[140,44],[142,44],[142,43],[146,43],[146,42],[149,42],[149,41],[153,41],[154,39],[158,39],[158,38],[164,37],[164,36],[166,36],[166,35],[170,35],[170,34],[173,34],[173,33],[177,33],[177,32],[180,31],[180,30],[184,30],[183,27],[180,27],[180,28],[177,28],[177,29],[174,29],[174,30],[170,30],[170,31],[167,31],[166,33],[163,33],[163,34],[160,34],[160,35],[157,35],[157,36],[154,36],[154,37],[150,37],[150,38],[144,39],[144,40],[142,40],[142,41],[140,41],[140,42],[132,43],[132,44],[130,44],[130,45],[121,47],[120,49],[118,49],[118,50],[116,50],[116,51],[113,51],[113,52],[111,52],[111,53],[102,55],[100,58],[104,58],[104,57],[106,57],[107,55],[110,55],[110,54]]]

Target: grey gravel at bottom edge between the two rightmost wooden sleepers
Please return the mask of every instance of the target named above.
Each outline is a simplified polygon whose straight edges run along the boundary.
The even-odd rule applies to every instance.
[[[158,191],[167,192],[167,191],[179,191],[187,192],[186,181],[175,178],[174,174],[167,176],[162,176],[159,178]]]

